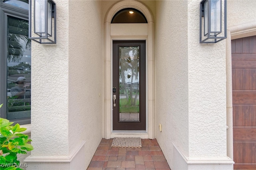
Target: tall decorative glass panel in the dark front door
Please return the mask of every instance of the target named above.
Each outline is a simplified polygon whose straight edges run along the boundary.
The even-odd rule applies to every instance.
[[[119,47],[119,121],[140,121],[139,46]]]

